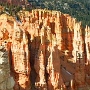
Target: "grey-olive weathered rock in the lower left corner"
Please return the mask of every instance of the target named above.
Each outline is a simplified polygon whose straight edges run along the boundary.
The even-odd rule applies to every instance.
[[[8,52],[0,46],[0,90],[13,90],[15,81],[10,76]]]

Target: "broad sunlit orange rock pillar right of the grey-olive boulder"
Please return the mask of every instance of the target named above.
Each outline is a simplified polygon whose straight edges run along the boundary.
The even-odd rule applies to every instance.
[[[12,37],[12,62],[15,75],[15,90],[30,88],[30,55],[28,49],[28,38],[25,31],[22,31],[14,22],[14,33]]]

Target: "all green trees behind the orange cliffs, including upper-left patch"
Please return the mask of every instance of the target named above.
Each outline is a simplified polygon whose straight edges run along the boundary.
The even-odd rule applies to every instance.
[[[32,5],[26,6],[26,10],[35,8],[46,8],[49,10],[58,10],[62,13],[70,14],[72,17],[82,21],[83,26],[90,26],[90,0],[28,0]],[[0,3],[5,7],[5,11],[10,15],[16,15],[22,9],[21,6],[14,6],[7,3]]]

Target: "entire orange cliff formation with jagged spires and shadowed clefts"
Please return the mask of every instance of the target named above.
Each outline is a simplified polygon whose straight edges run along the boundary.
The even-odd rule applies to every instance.
[[[0,15],[0,46],[8,52],[13,89],[88,90],[90,28],[59,11],[35,9],[18,16],[20,21]]]

